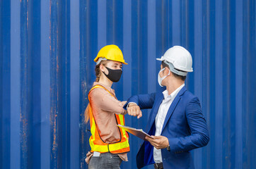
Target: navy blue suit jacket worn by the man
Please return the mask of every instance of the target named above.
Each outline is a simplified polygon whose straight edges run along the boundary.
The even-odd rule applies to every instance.
[[[156,131],[155,118],[165,89],[161,87],[159,92],[153,94],[132,96],[127,101],[127,104],[136,103],[141,109],[152,108],[148,122],[150,135],[154,135]],[[190,150],[206,146],[209,142],[209,132],[199,99],[188,92],[186,87],[182,87],[170,105],[161,135],[168,138],[170,145],[170,151],[161,149],[163,168],[194,168]],[[153,146],[149,142],[142,144],[136,156],[136,163],[138,168],[155,163]]]

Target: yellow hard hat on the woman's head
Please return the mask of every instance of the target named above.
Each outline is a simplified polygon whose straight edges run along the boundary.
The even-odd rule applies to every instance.
[[[105,59],[99,60],[99,58],[105,58]],[[110,44],[100,49],[94,61],[98,64],[100,63],[101,60],[118,61],[118,62],[124,63],[125,65],[128,65],[128,63],[124,62],[124,56],[122,55],[121,49],[119,49],[119,47],[116,46],[115,44]]]

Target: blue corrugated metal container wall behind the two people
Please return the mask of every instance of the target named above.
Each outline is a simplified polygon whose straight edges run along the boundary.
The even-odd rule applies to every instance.
[[[158,89],[155,58],[185,46],[210,142],[196,168],[256,168],[255,0],[0,0],[0,168],[87,168],[83,123],[93,58],[117,44],[129,65],[117,98]],[[132,127],[145,128],[149,111]],[[141,140],[131,136],[135,168]],[[148,168],[152,168],[148,167]]]

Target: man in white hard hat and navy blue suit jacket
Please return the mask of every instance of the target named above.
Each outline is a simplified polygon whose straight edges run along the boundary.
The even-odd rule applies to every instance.
[[[138,168],[194,168],[190,151],[209,142],[206,120],[197,96],[187,91],[185,79],[192,72],[192,56],[182,46],[173,46],[161,58],[159,92],[132,96],[127,101],[130,115],[142,116],[141,109],[152,108],[149,134],[136,156]]]

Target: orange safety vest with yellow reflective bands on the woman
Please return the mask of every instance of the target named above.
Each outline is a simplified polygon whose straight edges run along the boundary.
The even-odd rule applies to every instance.
[[[105,89],[105,87],[101,85],[95,85],[88,94],[89,102],[90,102],[91,91],[95,88]],[[105,90],[109,92],[107,89]],[[113,94],[111,95],[113,96]],[[117,98],[115,97],[115,99]],[[89,142],[91,146],[91,152],[98,151],[100,153],[110,152],[112,154],[122,154],[130,151],[129,141],[128,141],[129,135],[125,130],[118,127],[118,130],[120,131],[121,139],[118,142],[105,143],[103,142],[103,139],[100,138],[98,127],[93,117],[93,108],[91,107],[91,104],[89,104],[89,113],[90,113],[90,125],[91,125],[91,137]],[[117,120],[117,124],[124,125],[124,115],[115,114],[115,119]]]

